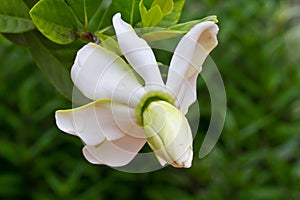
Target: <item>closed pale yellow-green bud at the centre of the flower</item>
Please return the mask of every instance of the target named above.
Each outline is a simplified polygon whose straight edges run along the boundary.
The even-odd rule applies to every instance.
[[[151,102],[143,112],[147,142],[162,165],[189,168],[192,164],[192,132],[185,116],[165,101]]]

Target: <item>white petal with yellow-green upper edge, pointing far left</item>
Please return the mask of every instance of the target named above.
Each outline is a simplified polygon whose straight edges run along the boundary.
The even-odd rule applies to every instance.
[[[85,144],[97,145],[117,140],[126,133],[142,137],[134,109],[126,104],[99,100],[85,106],[56,112],[56,124],[64,132],[77,135]]]

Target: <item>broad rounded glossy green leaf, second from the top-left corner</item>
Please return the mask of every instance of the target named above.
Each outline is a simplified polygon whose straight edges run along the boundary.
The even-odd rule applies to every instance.
[[[69,44],[77,38],[76,18],[62,0],[41,0],[30,15],[39,31],[53,42]]]

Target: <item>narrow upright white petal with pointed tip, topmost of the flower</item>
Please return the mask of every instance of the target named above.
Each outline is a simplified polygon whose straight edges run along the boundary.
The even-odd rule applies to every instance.
[[[121,19],[120,13],[113,17],[113,26],[124,56],[145,83],[163,85],[154,53],[147,42],[139,38],[133,28]]]

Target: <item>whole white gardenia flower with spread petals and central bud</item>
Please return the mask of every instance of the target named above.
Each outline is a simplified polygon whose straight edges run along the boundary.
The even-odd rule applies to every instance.
[[[127,62],[97,44],[80,49],[71,77],[92,102],[57,111],[58,128],[80,137],[94,164],[124,166],[148,142],[162,165],[190,167],[193,138],[185,114],[196,100],[202,64],[218,43],[218,26],[202,22],[183,36],[166,84],[152,49],[119,13],[113,27]]]

